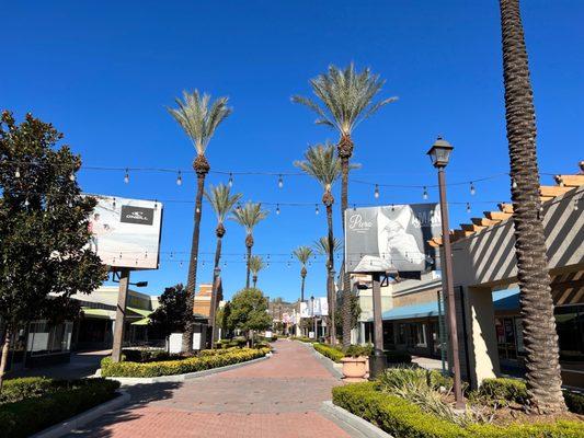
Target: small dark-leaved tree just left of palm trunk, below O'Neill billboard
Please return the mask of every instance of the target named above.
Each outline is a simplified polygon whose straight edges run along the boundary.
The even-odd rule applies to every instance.
[[[188,321],[187,293],[182,284],[164,289],[158,298],[159,307],[150,315],[150,326],[164,338],[171,333],[184,332]]]

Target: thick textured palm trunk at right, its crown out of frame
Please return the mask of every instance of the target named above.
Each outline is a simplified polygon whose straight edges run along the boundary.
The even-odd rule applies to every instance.
[[[539,413],[565,411],[546,239],[540,218],[536,117],[518,0],[500,0],[505,115],[527,392]]]

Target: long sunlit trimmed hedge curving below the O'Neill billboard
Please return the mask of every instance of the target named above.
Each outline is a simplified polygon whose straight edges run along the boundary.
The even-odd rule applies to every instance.
[[[102,359],[103,377],[159,377],[184,374],[203,371],[227,365],[257,359],[270,353],[270,348],[234,348],[230,350],[214,350],[181,360],[161,362],[113,362],[110,357]]]

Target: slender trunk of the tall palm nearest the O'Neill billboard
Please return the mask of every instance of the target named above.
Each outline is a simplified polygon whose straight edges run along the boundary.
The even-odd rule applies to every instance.
[[[195,287],[197,279],[197,258],[198,258],[198,240],[201,235],[201,216],[203,212],[203,192],[205,188],[205,176],[209,172],[209,163],[205,155],[197,155],[193,168],[197,174],[197,195],[195,201],[195,227],[193,229],[193,241],[191,244],[191,260],[188,262],[188,277],[186,281],[186,307],[191,315],[195,307]],[[193,333],[195,331],[195,321],[191,316],[185,324],[183,334],[182,350],[185,353],[193,351]]]

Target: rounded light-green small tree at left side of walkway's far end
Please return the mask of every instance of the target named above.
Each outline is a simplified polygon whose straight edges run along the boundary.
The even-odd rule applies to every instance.
[[[267,330],[272,319],[267,314],[267,300],[260,289],[242,289],[231,299],[229,328],[241,330],[248,341],[252,331]]]

